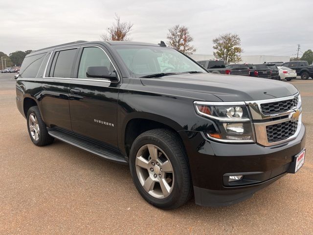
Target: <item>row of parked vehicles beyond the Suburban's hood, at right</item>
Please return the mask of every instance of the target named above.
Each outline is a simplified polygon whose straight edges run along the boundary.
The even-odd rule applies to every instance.
[[[223,60],[201,60],[198,63],[211,73],[231,74],[291,81],[296,76],[301,79],[313,78],[313,66],[307,61],[270,62],[264,64],[232,64],[225,66]],[[280,69],[282,68],[282,69]]]

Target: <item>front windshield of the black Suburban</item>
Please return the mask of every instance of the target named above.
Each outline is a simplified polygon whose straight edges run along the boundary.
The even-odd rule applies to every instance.
[[[187,56],[168,47],[114,45],[131,76],[142,77],[156,73],[206,72]]]

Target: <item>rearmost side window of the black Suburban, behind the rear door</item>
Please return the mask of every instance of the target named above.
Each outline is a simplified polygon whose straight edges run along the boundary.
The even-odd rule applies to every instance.
[[[25,57],[20,70],[21,77],[36,77],[46,53]]]

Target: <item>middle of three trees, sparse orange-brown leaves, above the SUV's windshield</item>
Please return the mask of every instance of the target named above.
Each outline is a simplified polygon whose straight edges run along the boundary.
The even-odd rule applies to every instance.
[[[190,55],[196,51],[196,48],[191,45],[191,42],[194,41],[191,37],[188,28],[184,25],[175,25],[172,28],[169,28],[169,33],[167,34],[167,43],[170,47],[173,47],[182,53]]]

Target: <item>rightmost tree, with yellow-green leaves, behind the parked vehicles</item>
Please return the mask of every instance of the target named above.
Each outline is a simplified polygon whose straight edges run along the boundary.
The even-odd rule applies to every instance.
[[[217,59],[223,59],[225,65],[230,63],[238,63],[241,61],[241,40],[238,34],[225,33],[212,40],[213,55]]]

